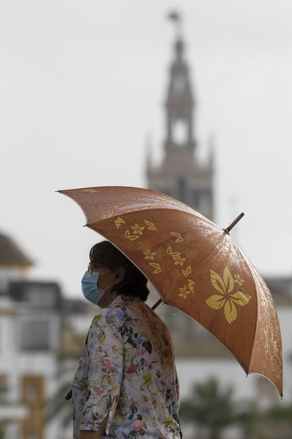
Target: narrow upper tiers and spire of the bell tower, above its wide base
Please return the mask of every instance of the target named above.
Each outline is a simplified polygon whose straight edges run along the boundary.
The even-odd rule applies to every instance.
[[[166,140],[165,149],[195,148],[193,138],[194,99],[189,79],[189,68],[184,59],[184,42],[181,32],[181,17],[172,13],[169,17],[176,22],[175,58],[170,68],[170,81],[165,102],[166,107]]]

